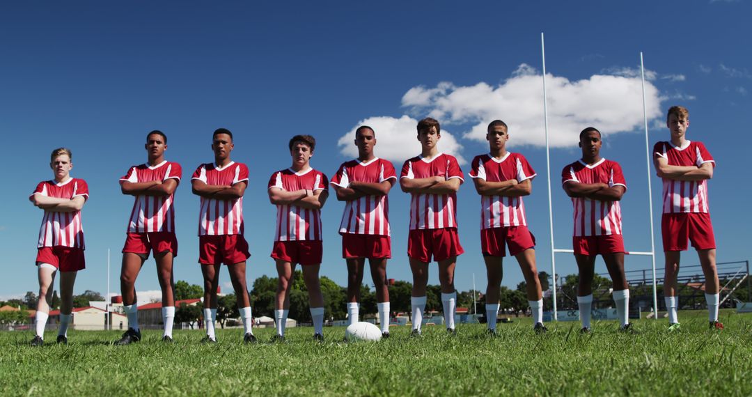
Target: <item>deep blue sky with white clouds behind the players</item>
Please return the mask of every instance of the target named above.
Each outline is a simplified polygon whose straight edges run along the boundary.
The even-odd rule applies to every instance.
[[[481,130],[495,118],[510,125],[510,149],[538,171],[525,198],[538,240],[539,270],[550,271],[543,137],[540,34],[546,35],[553,224],[557,248],[571,245],[572,205],[559,187],[561,168],[579,158],[576,135],[604,132],[602,155],[620,162],[628,192],[622,202],[628,250],[650,249],[647,180],[639,92],[639,53],[648,70],[650,143],[667,139],[670,105],[690,109],[690,140],[717,160],[710,183],[718,261],[750,258],[744,147],[750,116],[752,37],[748,2],[5,2],[0,5],[0,133],[5,183],[0,209],[0,299],[35,291],[34,259],[41,211],[27,201],[52,177],[49,153],[70,147],[74,177],[89,182],[83,212],[87,269],[77,293],[118,292],[120,249],[132,198],[117,180],[145,162],[144,138],[167,133],[171,161],[183,165],[177,189],[176,280],[201,282],[196,237],[199,198],[190,174],[210,162],[211,132],[235,133],[235,161],[250,168],[248,283],[274,276],[269,258],[274,208],[266,183],[290,165],[290,136],[314,135],[312,165],[331,175],[350,159],[351,132],[365,121],[379,139],[377,155],[399,168],[419,153],[414,121],[442,123],[441,150],[469,162],[487,151]],[[463,165],[465,174],[468,164]],[[650,170],[656,232],[660,181]],[[406,251],[408,196],[390,194],[393,259],[388,276],[411,280]],[[321,274],[344,285],[338,223],[343,205],[329,200]],[[456,286],[484,289],[478,242],[479,198],[467,180],[459,193]],[[663,265],[656,235],[657,267]],[[684,264],[696,264],[692,252]],[[576,271],[557,254],[557,272]],[[628,257],[626,268],[649,268]],[[597,271],[605,271],[599,261]],[[229,281],[225,272],[222,282]],[[504,284],[522,280],[505,261]],[[438,283],[432,265],[431,283]],[[153,261],[139,291],[159,289]],[[228,288],[229,290],[229,288]],[[142,298],[147,294],[142,295]]]

